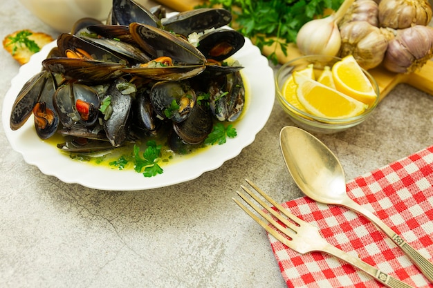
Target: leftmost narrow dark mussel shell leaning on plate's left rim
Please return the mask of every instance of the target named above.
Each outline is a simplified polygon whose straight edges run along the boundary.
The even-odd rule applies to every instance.
[[[26,123],[28,117],[32,115],[33,107],[39,101],[41,91],[48,77],[48,71],[39,72],[30,78],[21,88],[10,113],[9,126],[12,130],[21,128]]]

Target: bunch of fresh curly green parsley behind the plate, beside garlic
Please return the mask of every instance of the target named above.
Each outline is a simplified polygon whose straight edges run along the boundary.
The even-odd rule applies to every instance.
[[[297,31],[304,23],[325,8],[338,10],[342,0],[209,0],[204,6],[222,6],[234,15],[235,28],[255,44],[264,46],[277,44],[286,55],[287,44],[295,43]],[[274,38],[272,38],[274,37]],[[269,58],[277,61],[275,50]]]

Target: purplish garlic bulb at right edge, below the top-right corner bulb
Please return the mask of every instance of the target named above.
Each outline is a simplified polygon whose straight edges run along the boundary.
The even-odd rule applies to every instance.
[[[433,56],[433,29],[413,26],[397,30],[388,43],[383,66],[396,73],[412,73]]]

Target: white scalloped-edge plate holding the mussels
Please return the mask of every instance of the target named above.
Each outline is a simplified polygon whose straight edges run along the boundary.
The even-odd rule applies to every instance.
[[[40,140],[33,127],[33,119],[28,119],[17,131],[12,131],[9,127],[10,111],[19,90],[30,77],[41,70],[42,60],[54,46],[55,42],[44,46],[12,79],[3,103],[3,128],[12,148],[21,153],[28,164],[35,165],[42,173],[53,175],[66,183],[78,183],[93,189],[126,191],[154,189],[195,179],[239,155],[244,147],[255,140],[255,135],[264,127],[273,108],[273,70],[268,66],[266,57],[246,39],[243,48],[233,56],[245,67],[243,75],[250,92],[246,111],[235,125],[237,137],[228,139],[223,145],[216,144],[201,153],[169,163],[163,166],[163,174],[155,177],[144,177],[132,170],[119,171],[106,166],[78,162],[60,153],[52,144]]]

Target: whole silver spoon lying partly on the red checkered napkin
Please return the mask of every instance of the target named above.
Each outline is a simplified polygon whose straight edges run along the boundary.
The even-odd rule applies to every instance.
[[[344,171],[338,158],[310,133],[293,126],[279,133],[284,161],[297,186],[309,198],[324,204],[346,207],[365,216],[380,228],[433,283],[433,264],[412,248],[376,215],[351,200],[346,191]]]

